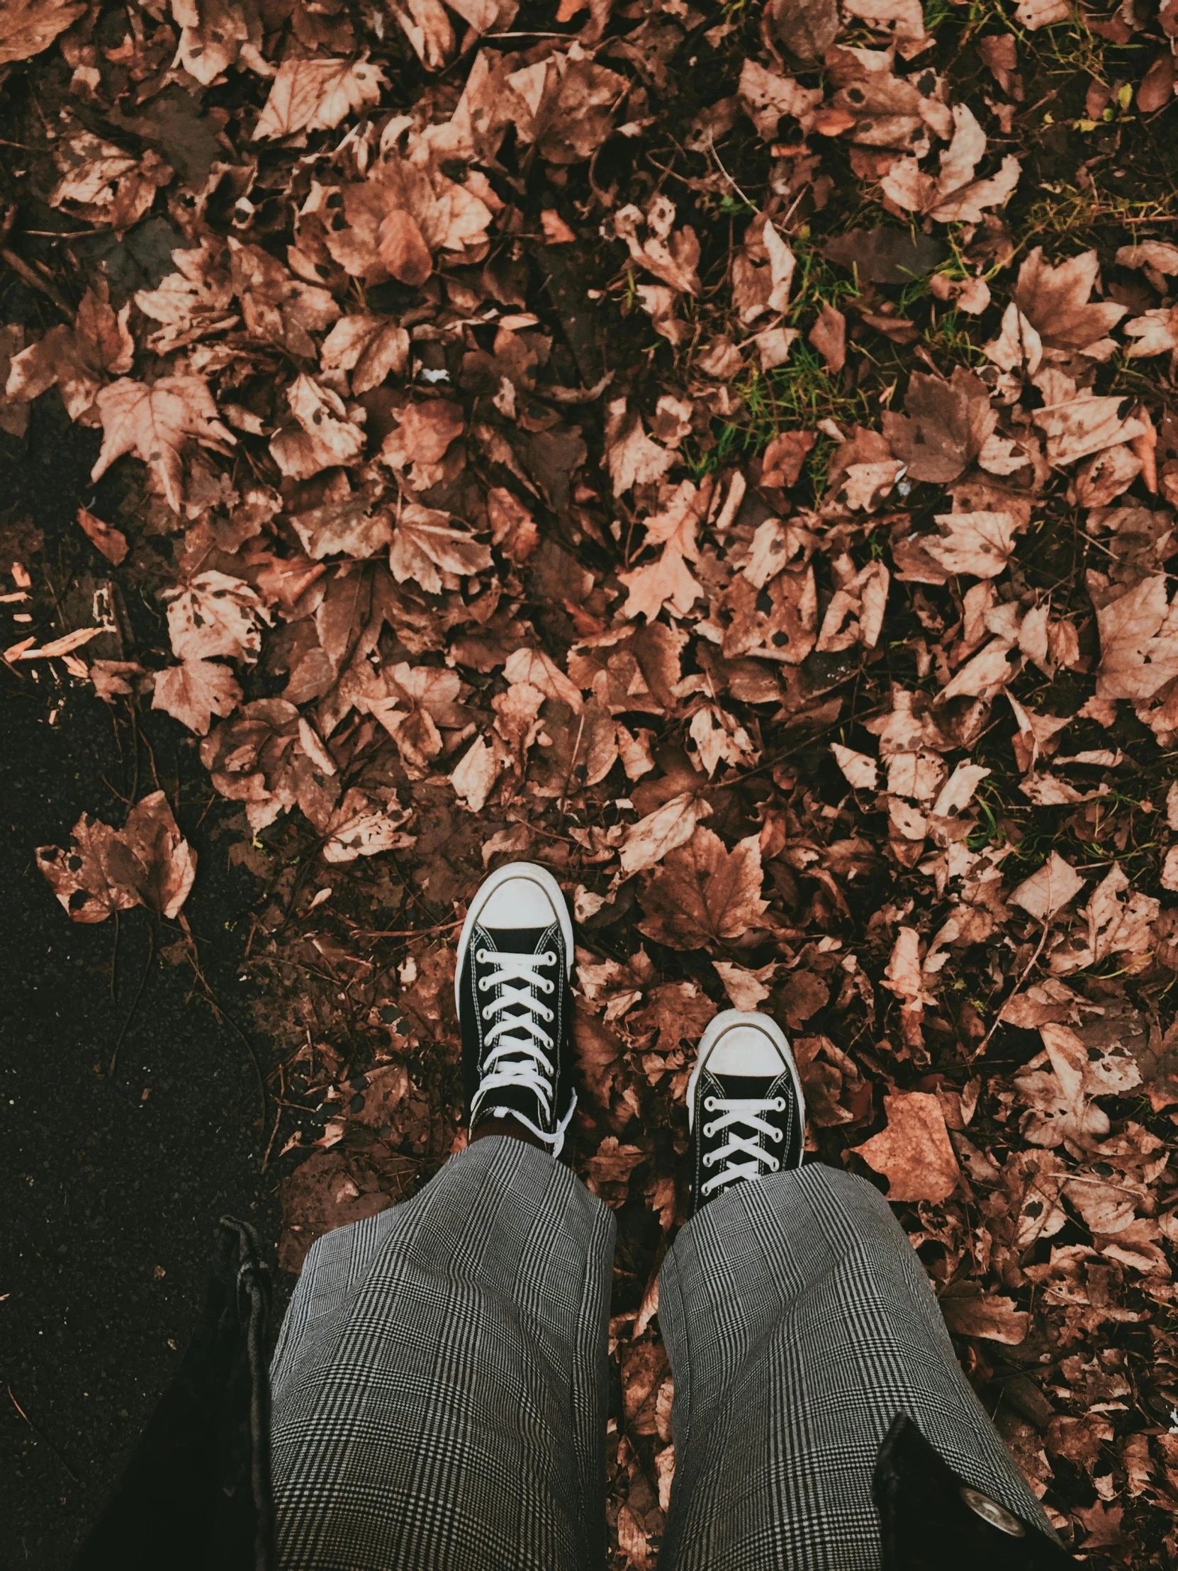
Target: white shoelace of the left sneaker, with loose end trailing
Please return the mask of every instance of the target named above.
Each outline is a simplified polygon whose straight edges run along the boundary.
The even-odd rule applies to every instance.
[[[539,993],[551,993],[556,983],[540,976],[540,966],[554,966],[558,955],[551,949],[545,949],[540,955],[499,954],[496,949],[479,949],[474,958],[481,966],[496,968],[488,976],[479,979],[479,991],[488,993],[495,987],[501,988],[501,991],[496,999],[482,1005],[484,1020],[495,1020],[496,1015],[499,1015],[499,1020],[484,1038],[488,1048],[492,1048],[492,1043],[496,1045],[484,1059],[484,1076],[474,1093],[471,1115],[484,1106],[490,1092],[509,1086],[532,1092],[547,1115],[551,1112],[553,1075],[556,1073],[548,1054],[554,1051],[556,1043],[542,1029],[540,1021],[551,1024],[556,1013],[547,1004],[540,1002]],[[512,987],[515,982],[523,985]],[[515,1010],[515,1013],[506,1013],[507,1010]],[[553,1156],[559,1156],[564,1145],[564,1131],[569,1128],[575,1106],[576,1093],[573,1092],[569,1112],[553,1134],[539,1130],[518,1108],[492,1108],[492,1112],[499,1119],[517,1119],[539,1141],[551,1145]]]

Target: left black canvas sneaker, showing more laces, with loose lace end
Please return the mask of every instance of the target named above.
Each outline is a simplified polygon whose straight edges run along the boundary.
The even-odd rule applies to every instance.
[[[484,878],[459,939],[468,1128],[515,1119],[561,1155],[576,1106],[569,1027],[573,924],[547,867],[507,862]]]

